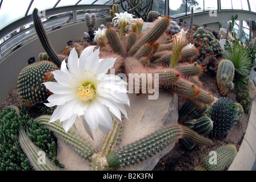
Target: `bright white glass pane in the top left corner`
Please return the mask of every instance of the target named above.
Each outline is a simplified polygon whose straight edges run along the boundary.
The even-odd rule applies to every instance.
[[[0,30],[6,27],[8,24],[15,22],[25,16],[27,7],[31,0],[8,0],[2,1],[0,9]]]

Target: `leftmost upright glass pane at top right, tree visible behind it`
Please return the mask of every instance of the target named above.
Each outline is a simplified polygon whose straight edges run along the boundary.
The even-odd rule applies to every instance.
[[[186,1],[176,0],[175,3],[169,3],[169,15],[173,18],[186,15]]]

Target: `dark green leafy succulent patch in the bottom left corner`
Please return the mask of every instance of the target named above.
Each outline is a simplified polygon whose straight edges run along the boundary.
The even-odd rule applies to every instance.
[[[15,110],[0,110],[0,171],[31,171],[19,146],[19,120]]]

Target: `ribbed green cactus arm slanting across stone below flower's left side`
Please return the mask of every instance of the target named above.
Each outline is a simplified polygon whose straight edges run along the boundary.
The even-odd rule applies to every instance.
[[[59,121],[49,123],[50,118],[50,115],[42,115],[37,118],[37,121],[47,129],[52,130],[59,138],[73,148],[81,158],[88,160],[95,153],[94,148],[85,139],[79,137],[71,130],[66,133]]]

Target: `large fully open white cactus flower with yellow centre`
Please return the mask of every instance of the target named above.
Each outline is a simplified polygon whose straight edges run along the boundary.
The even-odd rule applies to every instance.
[[[107,134],[113,130],[113,119],[122,123],[121,113],[127,118],[124,105],[130,105],[126,82],[116,75],[107,75],[115,58],[99,59],[99,49],[85,48],[79,59],[73,48],[67,64],[53,71],[57,82],[43,84],[53,94],[47,98],[46,106],[57,106],[49,122],[59,119],[67,132],[75,126],[75,119],[82,117],[86,132],[93,138],[91,129]]]

